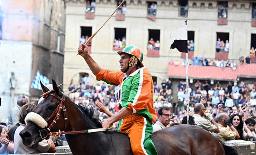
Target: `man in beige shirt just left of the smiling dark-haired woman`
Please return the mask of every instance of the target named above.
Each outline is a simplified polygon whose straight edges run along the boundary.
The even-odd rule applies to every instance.
[[[218,118],[218,127],[220,129],[220,132],[218,134],[212,133],[218,140],[221,142],[226,142],[228,140],[234,140],[235,138],[240,138],[237,130],[232,125],[231,121],[229,120],[229,117],[227,114],[220,113]],[[231,131],[229,131],[226,127],[229,126]]]

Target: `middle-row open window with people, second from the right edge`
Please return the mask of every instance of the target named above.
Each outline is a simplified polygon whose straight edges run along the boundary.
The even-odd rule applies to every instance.
[[[216,52],[228,53],[229,33],[217,32]]]

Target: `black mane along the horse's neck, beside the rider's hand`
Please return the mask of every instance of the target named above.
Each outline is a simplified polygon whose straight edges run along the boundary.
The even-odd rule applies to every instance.
[[[74,103],[75,104],[75,103]],[[76,105],[76,104],[75,104]],[[78,109],[80,109],[80,111],[85,115],[85,117],[88,118],[88,120],[97,128],[102,128],[101,123],[99,122],[99,120],[97,118],[93,118],[93,109],[92,108],[86,108],[83,105],[76,105],[76,107],[78,107]]]

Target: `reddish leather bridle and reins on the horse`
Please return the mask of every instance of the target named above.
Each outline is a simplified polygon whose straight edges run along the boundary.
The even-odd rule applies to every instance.
[[[89,130],[82,130],[82,131],[68,131],[68,132],[65,132],[65,130],[67,129],[67,115],[66,115],[66,107],[65,107],[66,97],[65,97],[65,94],[63,92],[61,92],[61,93],[62,93],[62,98],[60,96],[57,96],[56,94],[49,94],[48,93],[48,94],[44,94],[44,96],[42,95],[44,98],[47,97],[48,95],[52,95],[52,96],[56,97],[58,100],[61,101],[61,103],[55,109],[53,114],[46,121],[46,122],[48,122],[49,120],[51,120],[55,116],[52,123],[47,127],[47,130],[45,130],[45,129],[44,130],[39,130],[39,135],[42,138],[42,140],[44,140],[48,136],[58,136],[58,137],[60,137],[63,134],[67,135],[67,134],[81,134],[81,133],[92,133],[92,132],[105,132],[107,130],[111,130],[112,128],[115,128],[115,125],[113,125],[109,129],[107,129],[107,128],[96,128],[96,129],[89,129]],[[64,121],[65,121],[64,131],[58,130],[58,132],[51,132],[51,129],[53,128],[53,126],[55,124],[57,124],[58,120],[60,120],[61,111],[63,111],[63,114],[64,114]],[[42,136],[43,131],[46,132],[45,137]]]

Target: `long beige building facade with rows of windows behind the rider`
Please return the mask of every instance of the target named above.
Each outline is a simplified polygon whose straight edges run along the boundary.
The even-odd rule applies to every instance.
[[[157,4],[156,14],[149,14],[148,7]],[[252,10],[255,7],[253,0],[127,0],[126,14],[120,20],[120,15],[115,13],[107,24],[92,39],[91,56],[102,67],[110,70],[119,70],[119,55],[113,49],[113,40],[119,33],[117,29],[126,30],[126,45],[136,45],[144,53],[144,65],[149,68],[152,76],[160,84],[167,79],[168,62],[173,59],[183,61],[184,55],[175,50],[170,50],[173,40],[170,38],[172,31],[184,27],[184,20],[188,20],[188,31],[192,33],[189,38],[194,40],[194,52],[198,57],[217,58],[216,41],[219,36],[224,36],[224,41],[229,40],[229,52],[220,55],[223,60],[234,60],[238,63],[240,56],[249,54],[253,41],[252,34],[256,34]],[[186,3],[186,4],[184,4]],[[89,67],[81,56],[76,56],[79,39],[84,34],[83,28],[96,32],[116,9],[116,0],[96,0],[95,12],[85,12],[86,0],[66,0],[66,39],[64,58],[64,90],[73,82],[77,83],[79,73],[88,73],[92,84],[97,82]],[[187,7],[185,14],[181,10]],[[226,18],[219,14],[220,7],[226,8]],[[221,16],[221,17],[220,17]],[[122,18],[122,17],[121,17]],[[158,30],[157,37],[160,49],[147,50],[150,31]],[[154,34],[153,34],[154,36]],[[90,36],[89,36],[90,37]],[[191,54],[191,52],[190,52]],[[225,57],[225,58],[224,58]],[[190,55],[191,58],[191,55]],[[192,64],[191,59],[189,60]]]

